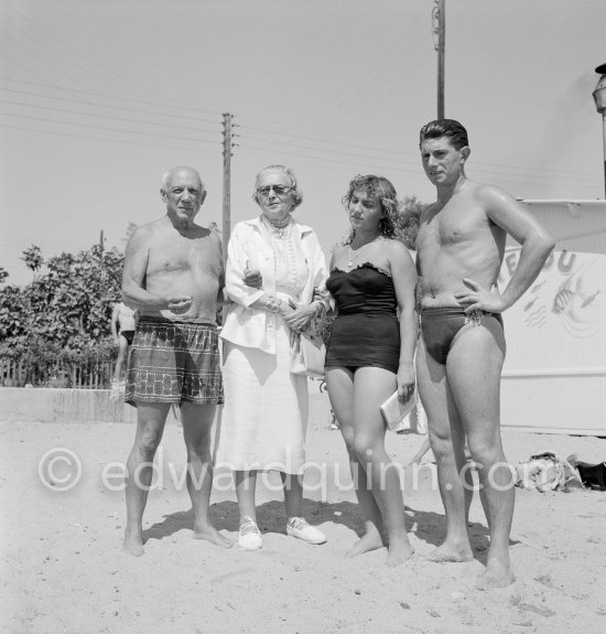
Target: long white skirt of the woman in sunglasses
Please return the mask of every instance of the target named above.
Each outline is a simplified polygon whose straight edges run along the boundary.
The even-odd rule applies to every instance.
[[[216,466],[301,473],[307,378],[290,372],[290,330],[277,319],[277,354],[224,342],[225,405]]]

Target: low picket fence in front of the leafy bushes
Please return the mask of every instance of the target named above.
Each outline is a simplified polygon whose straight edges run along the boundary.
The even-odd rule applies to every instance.
[[[0,386],[109,389],[115,363],[100,355],[79,363],[0,356]]]

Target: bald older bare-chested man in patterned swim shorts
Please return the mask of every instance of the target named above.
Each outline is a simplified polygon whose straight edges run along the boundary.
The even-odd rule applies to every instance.
[[[142,516],[153,456],[166,415],[181,406],[187,449],[187,491],[194,537],[231,542],[210,524],[210,429],[223,402],[215,318],[223,292],[218,234],[194,223],[206,190],[192,168],[174,168],[160,190],[166,215],[138,227],[125,257],[122,295],[139,311],[125,400],[137,407],[134,445],[127,463],[123,550],[143,555]]]

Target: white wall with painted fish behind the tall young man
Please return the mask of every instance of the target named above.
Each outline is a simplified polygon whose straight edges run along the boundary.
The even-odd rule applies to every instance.
[[[523,201],[556,240],[504,314],[501,425],[606,436],[606,202]],[[499,286],[520,247],[508,243]]]

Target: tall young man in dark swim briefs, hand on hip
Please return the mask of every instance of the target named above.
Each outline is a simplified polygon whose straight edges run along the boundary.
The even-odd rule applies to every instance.
[[[424,126],[420,148],[437,201],[423,212],[416,243],[422,331],[416,372],[447,530],[429,558],[473,559],[466,522],[472,491],[462,480],[467,438],[490,530],[478,587],[499,588],[513,581],[509,533],[515,501],[499,431],[505,358],[500,313],[537,278],[553,240],[509,194],[466,178],[470,150],[467,131],[458,121],[442,119]],[[496,284],[507,235],[521,245],[520,260],[499,293]]]

